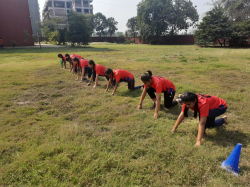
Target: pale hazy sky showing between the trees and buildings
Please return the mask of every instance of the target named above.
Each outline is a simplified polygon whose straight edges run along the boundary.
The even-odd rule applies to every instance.
[[[211,9],[209,3],[211,0],[191,0],[194,6],[197,6],[197,11],[200,15]],[[42,13],[45,0],[38,0],[40,13]],[[113,17],[118,22],[118,31],[125,32],[128,19],[137,15],[137,4],[141,0],[93,0],[93,13],[101,12],[107,18]]]

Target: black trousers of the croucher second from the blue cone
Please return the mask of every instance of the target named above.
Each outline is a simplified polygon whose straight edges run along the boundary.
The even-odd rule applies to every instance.
[[[151,97],[151,99],[156,98],[155,92],[156,90],[154,88],[150,86],[147,87],[147,93]],[[177,101],[173,101],[175,92],[172,92],[172,93],[163,92],[163,93],[164,93],[164,106],[166,108],[172,108],[178,104]]]

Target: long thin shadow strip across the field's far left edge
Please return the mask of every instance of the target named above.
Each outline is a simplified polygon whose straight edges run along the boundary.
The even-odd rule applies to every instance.
[[[77,52],[112,52],[112,51],[119,51],[110,48],[95,48],[95,47],[65,47],[65,48],[23,48],[23,49],[6,49],[2,50],[1,54],[12,54],[12,53],[62,53],[62,54],[75,54]]]

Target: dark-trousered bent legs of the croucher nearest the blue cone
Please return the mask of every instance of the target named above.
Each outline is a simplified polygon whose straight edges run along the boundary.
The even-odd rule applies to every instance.
[[[221,108],[221,109],[214,109],[214,110],[209,110],[209,115],[207,117],[207,122],[206,122],[206,127],[207,128],[214,128],[214,127],[219,127],[222,126],[224,123],[226,123],[227,117],[215,118],[217,116],[220,116],[226,112],[227,108]]]

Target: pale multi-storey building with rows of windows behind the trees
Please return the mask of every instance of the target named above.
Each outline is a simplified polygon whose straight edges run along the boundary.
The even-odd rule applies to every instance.
[[[79,14],[93,14],[93,0],[46,0],[43,8],[43,20],[59,17],[63,22],[59,28],[65,28],[67,25],[67,14],[75,11]]]

